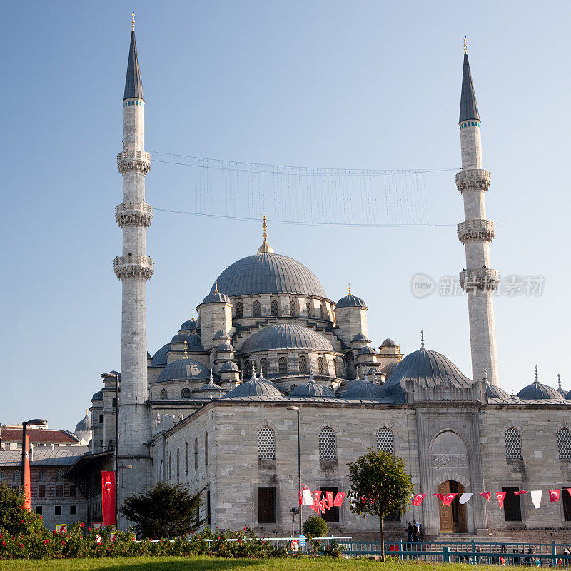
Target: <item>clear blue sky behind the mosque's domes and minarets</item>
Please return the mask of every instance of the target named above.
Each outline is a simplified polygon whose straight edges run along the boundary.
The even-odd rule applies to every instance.
[[[545,276],[541,297],[496,300],[500,384],[571,388],[568,2],[27,2],[0,22],[2,208],[0,422],[73,429],[120,363],[115,157],[131,11],[146,146],[236,161],[353,168],[460,165],[468,36],[492,172],[492,266]],[[192,210],[184,169],[153,165],[147,200]],[[428,176],[428,216],[463,220],[454,172]],[[350,197],[348,197],[348,200]],[[417,272],[464,266],[454,226],[274,225],[270,242],[328,296],[367,301],[375,345],[427,345],[471,375],[465,298],[416,299]],[[254,253],[258,223],[156,212],[147,250],[148,348],[171,339],[213,280]]]

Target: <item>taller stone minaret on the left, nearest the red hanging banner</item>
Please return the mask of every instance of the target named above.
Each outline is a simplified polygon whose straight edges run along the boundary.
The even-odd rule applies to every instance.
[[[145,202],[145,176],[151,169],[151,155],[145,152],[145,100],[134,14],[123,96],[123,151],[117,155],[117,168],[123,175],[123,202],[115,208],[117,224],[123,229],[123,254],[113,261],[113,270],[123,289],[118,456],[119,463],[133,466],[119,474],[121,502],[151,483],[151,458],[146,446],[151,440],[146,281],[153,274],[154,262],[146,256],[145,246],[153,208]]]

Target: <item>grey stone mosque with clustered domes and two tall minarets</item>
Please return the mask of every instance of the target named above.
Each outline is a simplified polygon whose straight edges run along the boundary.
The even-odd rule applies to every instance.
[[[183,482],[201,492],[201,516],[211,527],[290,533],[299,414],[301,478],[311,490],[347,491],[346,464],[369,447],[405,460],[415,494],[427,496],[388,518],[388,527],[401,530],[401,520],[415,519],[429,536],[523,537],[532,529],[571,536],[571,495],[536,509],[529,495],[509,493],[571,487],[571,395],[540,383],[537,370],[517,395],[500,388],[492,298],[499,274],[490,263],[495,225],[485,213],[490,173],[466,52],[456,186],[465,206],[458,237],[466,256],[460,283],[469,294],[471,378],[423,338],[408,355],[398,340],[373,343],[365,300],[350,290],[338,301],[328,298],[313,272],[286,256],[295,252],[273,251],[266,218],[258,250],[246,248],[221,271],[196,316],[148,353],[153,260],[145,235],[153,209],[145,201],[151,156],[144,150],[144,111],[133,25],[117,157],[123,251],[113,262],[123,289],[121,392],[117,403],[116,371],[103,375],[91,400],[91,453],[71,470],[78,481],[95,474],[91,520],[98,518],[97,470],[113,462],[118,404],[119,463],[133,466],[120,471],[120,497],[160,481]],[[486,491],[508,492],[503,507],[479,495]],[[445,506],[437,492],[474,495]],[[310,513],[303,508],[304,519]],[[378,529],[347,502],[324,517],[340,535]]]

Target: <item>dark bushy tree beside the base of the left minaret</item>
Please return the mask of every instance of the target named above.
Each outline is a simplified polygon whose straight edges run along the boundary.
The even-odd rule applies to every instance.
[[[201,492],[191,495],[186,485],[158,482],[150,490],[127,497],[121,513],[133,522],[141,537],[186,537],[201,523],[198,520]]]

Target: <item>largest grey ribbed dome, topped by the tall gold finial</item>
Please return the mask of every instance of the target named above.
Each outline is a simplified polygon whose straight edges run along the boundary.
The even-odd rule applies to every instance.
[[[228,266],[217,281],[218,290],[226,295],[300,293],[325,298],[325,290],[313,272],[303,263],[276,253],[242,258]]]

